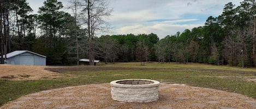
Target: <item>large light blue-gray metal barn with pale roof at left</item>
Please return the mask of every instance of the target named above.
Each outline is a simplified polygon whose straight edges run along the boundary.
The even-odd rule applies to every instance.
[[[4,56],[5,58],[5,56]],[[28,50],[16,50],[8,53],[6,57],[8,65],[46,65],[46,56]]]

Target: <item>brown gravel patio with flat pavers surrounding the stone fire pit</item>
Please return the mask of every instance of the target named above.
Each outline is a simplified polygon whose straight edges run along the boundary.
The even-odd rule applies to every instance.
[[[160,84],[159,100],[148,103],[111,99],[110,84],[72,86],[25,95],[4,108],[256,108],[245,95],[187,85]]]

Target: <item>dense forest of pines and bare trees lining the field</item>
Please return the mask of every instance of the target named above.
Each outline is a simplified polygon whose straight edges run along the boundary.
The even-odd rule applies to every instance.
[[[93,11],[95,7],[87,5],[97,6],[97,2],[102,10]],[[160,40],[154,33],[97,36],[96,31],[108,30],[103,17],[111,14],[108,4],[98,0],[73,1],[72,15],[62,11],[57,0],[45,1],[38,14],[31,14],[26,0],[0,3],[1,57],[15,50],[31,50],[47,56],[47,65],[77,65],[84,58],[106,63],[139,61],[141,65],[150,61],[256,65],[255,0],[244,0],[237,7],[227,3],[222,14],[209,16],[204,26]]]

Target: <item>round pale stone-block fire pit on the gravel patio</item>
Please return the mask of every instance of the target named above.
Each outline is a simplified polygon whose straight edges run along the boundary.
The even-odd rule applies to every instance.
[[[160,82],[148,79],[126,79],[110,82],[111,97],[124,102],[151,102],[158,100]]]

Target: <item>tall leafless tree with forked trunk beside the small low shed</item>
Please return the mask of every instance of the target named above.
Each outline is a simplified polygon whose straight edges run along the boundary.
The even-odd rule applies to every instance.
[[[109,8],[109,3],[105,0],[80,0],[78,1],[78,8],[82,9],[80,17],[87,27],[89,63],[94,65],[93,39],[97,32],[108,30],[108,23],[104,20],[105,17],[110,16],[112,9]]]

